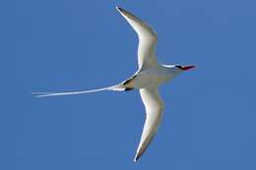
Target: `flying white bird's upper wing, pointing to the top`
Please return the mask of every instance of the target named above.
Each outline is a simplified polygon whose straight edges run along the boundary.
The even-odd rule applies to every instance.
[[[120,14],[126,19],[132,28],[137,32],[139,36],[138,47],[138,64],[139,70],[143,70],[149,67],[158,66],[159,63],[155,56],[155,47],[158,42],[158,35],[150,28],[146,23],[134,16],[130,12],[116,7]]]

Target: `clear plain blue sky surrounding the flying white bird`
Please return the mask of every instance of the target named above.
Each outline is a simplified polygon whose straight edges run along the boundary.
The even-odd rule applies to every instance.
[[[123,7],[159,33],[164,64],[196,64],[160,93],[159,133],[133,162],[145,119],[137,90],[91,89],[137,70]],[[0,2],[0,169],[255,170],[254,0]]]

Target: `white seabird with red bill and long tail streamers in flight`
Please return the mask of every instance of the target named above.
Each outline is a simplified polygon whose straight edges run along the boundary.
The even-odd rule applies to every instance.
[[[117,11],[136,31],[139,38],[138,46],[138,70],[129,79],[118,85],[111,85],[92,90],[81,90],[72,92],[37,92],[37,97],[48,97],[57,95],[81,94],[102,90],[128,91],[137,89],[140,91],[145,106],[146,120],[137,148],[134,161],[136,162],[148,148],[155,137],[160,126],[164,103],[160,97],[160,85],[170,82],[181,73],[195,68],[195,65],[163,65],[156,57],[156,46],[158,42],[157,32],[140,18],[131,12],[116,7]]]

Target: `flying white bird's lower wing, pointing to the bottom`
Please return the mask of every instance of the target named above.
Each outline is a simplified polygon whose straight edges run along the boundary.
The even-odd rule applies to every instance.
[[[141,88],[140,93],[146,109],[146,121],[134,161],[142,156],[157,133],[164,108],[158,87]]]

